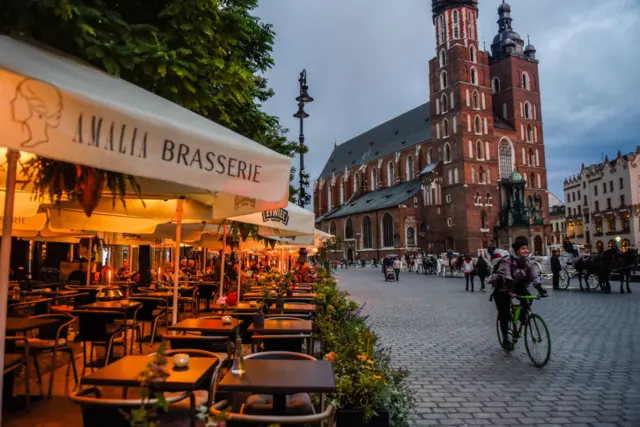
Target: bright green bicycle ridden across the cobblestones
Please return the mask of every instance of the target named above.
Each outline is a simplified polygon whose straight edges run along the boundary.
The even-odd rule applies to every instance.
[[[518,342],[518,338],[524,336],[524,345],[527,350],[529,359],[534,366],[542,368],[549,362],[549,358],[551,357],[551,334],[549,333],[549,328],[547,327],[544,319],[542,319],[540,315],[535,314],[531,311],[531,305],[533,304],[533,300],[543,299],[543,297],[533,295],[512,295],[512,298],[520,301],[529,301],[529,308],[527,310],[527,313],[522,313],[522,304],[511,304],[511,328],[509,328],[509,342],[511,342],[512,348],[515,348],[516,342]],[[526,324],[523,324],[521,322],[520,326],[518,327],[518,321],[520,320],[520,316],[523,314],[527,316]],[[500,329],[499,317],[496,320],[496,328],[498,330],[498,340],[500,344],[502,344],[503,339],[502,331]],[[531,343],[527,341],[527,337],[531,338]],[[547,344],[547,351],[544,354],[544,357],[537,357],[537,355],[534,356],[533,354],[534,349],[537,348],[538,344]],[[509,351],[510,350],[507,350],[507,352]]]

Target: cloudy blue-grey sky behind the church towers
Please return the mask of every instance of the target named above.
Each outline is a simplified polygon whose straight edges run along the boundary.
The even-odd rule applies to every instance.
[[[480,0],[480,38],[490,46],[502,0]],[[531,35],[540,60],[549,189],[604,154],[640,145],[640,1],[510,0],[514,30]],[[265,109],[297,139],[297,78],[306,68],[305,156],[318,176],[333,148],[429,97],[435,32],[428,0],[261,0],[277,33],[275,97]],[[298,161],[296,160],[296,165]]]

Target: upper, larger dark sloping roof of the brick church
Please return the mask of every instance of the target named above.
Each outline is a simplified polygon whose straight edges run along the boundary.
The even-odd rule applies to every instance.
[[[320,178],[431,139],[429,103],[407,111],[333,149]]]

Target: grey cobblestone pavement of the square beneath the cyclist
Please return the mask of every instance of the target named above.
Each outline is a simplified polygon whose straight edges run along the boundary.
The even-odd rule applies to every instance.
[[[522,340],[501,350],[495,306],[477,285],[467,293],[464,279],[413,273],[385,283],[377,268],[337,276],[410,370],[415,426],[640,426],[639,284],[630,295],[560,291],[536,301],[552,338],[551,360],[537,369]]]

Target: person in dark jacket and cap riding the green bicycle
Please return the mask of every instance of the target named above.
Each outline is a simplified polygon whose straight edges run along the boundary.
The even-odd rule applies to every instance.
[[[505,350],[513,349],[513,345],[509,340],[512,296],[529,295],[527,290],[529,284],[533,284],[540,296],[547,296],[547,291],[542,288],[538,270],[532,268],[531,261],[529,261],[529,242],[527,239],[518,238],[511,246],[513,247],[513,254],[500,260],[490,280],[493,285],[491,298],[495,301],[498,309],[498,318],[503,337],[502,346]],[[526,324],[525,313],[527,311],[528,303],[523,300],[523,315],[520,317],[522,324]]]

